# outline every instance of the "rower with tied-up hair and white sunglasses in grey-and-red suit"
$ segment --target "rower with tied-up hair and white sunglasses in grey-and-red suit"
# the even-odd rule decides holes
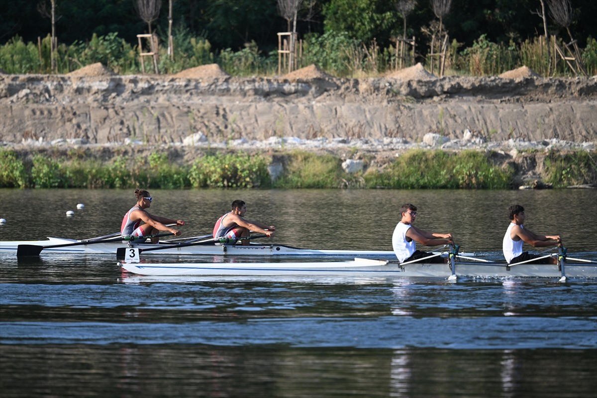
[[[158,231],[167,231],[174,234],[174,236],[180,236],[181,232],[176,229],[172,229],[165,224],[176,224],[179,226],[184,225],[183,220],[173,220],[172,218],[159,217],[158,215],[151,215],[147,212],[151,206],[153,200],[149,192],[142,189],[135,190],[135,197],[137,198],[137,204],[134,205],[122,219],[120,227],[120,233],[122,236],[147,236],[156,235]],[[143,221],[144,224],[141,224]],[[144,242],[146,239],[140,239],[138,242]],[[158,243],[159,237],[154,236],[151,238],[152,243]]]

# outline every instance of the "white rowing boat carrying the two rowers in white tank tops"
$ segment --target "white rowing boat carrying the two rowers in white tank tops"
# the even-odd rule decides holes
[[[342,277],[558,277],[597,278],[597,264],[518,264],[460,262],[399,264],[389,260],[246,263],[133,263],[119,261],[125,270],[153,276],[342,276]]]

